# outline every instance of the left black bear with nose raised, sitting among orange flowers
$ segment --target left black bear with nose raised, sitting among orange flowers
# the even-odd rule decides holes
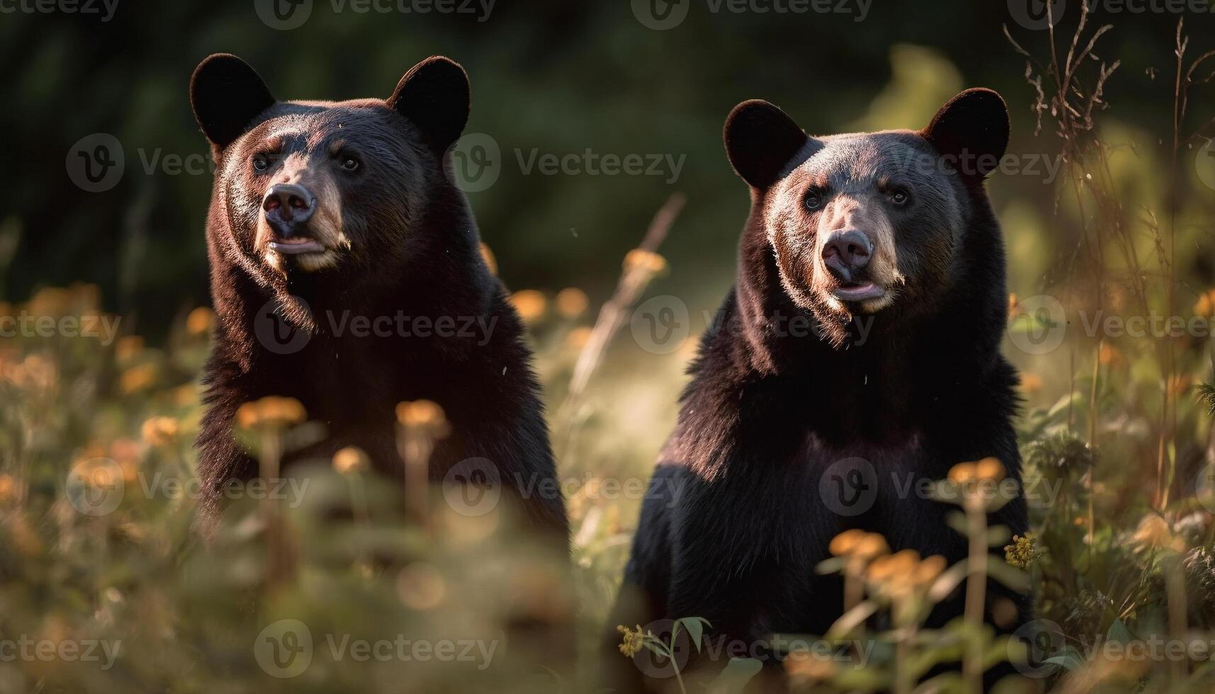
[[[479,461],[484,481],[518,492],[525,519],[567,548],[531,352],[450,175],[469,113],[464,69],[431,57],[388,100],[277,101],[242,60],[214,55],[191,102],[217,164],[204,509],[227,480],[258,474],[233,438],[244,402],[294,397],[327,429],[307,455],[355,445],[400,478],[395,407],[429,400],[451,429],[431,480]]]

